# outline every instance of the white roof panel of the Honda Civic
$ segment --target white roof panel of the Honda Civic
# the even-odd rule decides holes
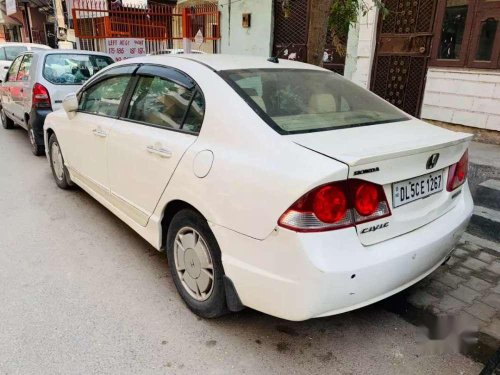
[[[305,64],[298,61],[279,59],[279,63],[269,62],[267,57],[247,55],[225,55],[225,54],[183,54],[183,55],[154,55],[136,57],[131,60],[123,60],[121,63],[150,63],[168,64],[170,59],[186,59],[199,62],[212,70],[239,70],[239,69],[308,69],[323,70],[315,65]]]

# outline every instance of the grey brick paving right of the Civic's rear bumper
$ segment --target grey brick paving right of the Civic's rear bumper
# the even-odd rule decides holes
[[[443,327],[447,331],[450,322],[467,322],[459,331],[465,333],[459,335],[460,352],[485,364],[500,347],[500,252],[474,240],[466,233],[447,264],[381,305],[426,327],[433,340],[447,337]]]

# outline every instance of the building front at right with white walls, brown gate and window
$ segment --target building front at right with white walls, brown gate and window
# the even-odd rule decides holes
[[[414,116],[500,131],[500,1],[385,4],[351,28],[345,75]]]

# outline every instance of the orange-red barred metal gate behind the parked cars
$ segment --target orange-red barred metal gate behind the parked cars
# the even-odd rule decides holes
[[[105,52],[107,38],[144,38],[147,53],[182,48],[182,39],[203,34],[204,52],[216,52],[220,39],[217,4],[172,6],[148,2],[147,6],[123,6],[121,1],[75,0],[72,9],[75,36],[80,49]]]

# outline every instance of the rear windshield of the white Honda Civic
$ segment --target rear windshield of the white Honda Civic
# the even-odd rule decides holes
[[[375,94],[331,72],[255,69],[221,75],[281,134],[409,119]]]

